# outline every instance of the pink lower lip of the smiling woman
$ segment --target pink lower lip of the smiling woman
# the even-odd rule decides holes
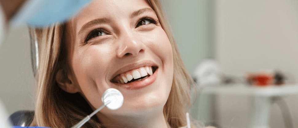
[[[149,76],[145,79],[142,79],[141,81],[134,81],[134,82],[127,83],[127,84],[117,84],[117,85],[124,87],[125,89],[129,89],[129,90],[141,89],[141,88],[149,86],[155,82],[156,77],[157,77],[157,71],[158,71],[158,68],[155,70],[154,74],[152,74],[151,76]]]

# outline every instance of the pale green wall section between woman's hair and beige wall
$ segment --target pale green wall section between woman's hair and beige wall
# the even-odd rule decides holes
[[[213,1],[162,0],[182,60],[193,75],[205,58],[213,57]]]

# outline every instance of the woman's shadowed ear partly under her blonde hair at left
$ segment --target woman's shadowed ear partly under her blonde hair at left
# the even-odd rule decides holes
[[[69,74],[64,72],[65,70],[59,69],[56,74],[56,82],[58,83],[59,87],[68,93],[77,93],[80,91],[78,86],[75,82],[72,81],[72,78]]]

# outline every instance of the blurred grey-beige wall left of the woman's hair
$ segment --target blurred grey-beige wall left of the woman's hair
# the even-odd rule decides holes
[[[34,108],[29,46],[26,26],[8,30],[0,46],[0,99],[8,114]]]

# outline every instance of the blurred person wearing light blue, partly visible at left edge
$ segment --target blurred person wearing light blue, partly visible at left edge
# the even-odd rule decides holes
[[[70,18],[91,0],[0,0],[0,46],[9,26],[43,27]],[[1,98],[0,98],[1,99]],[[7,114],[0,100],[0,127],[7,127]]]

